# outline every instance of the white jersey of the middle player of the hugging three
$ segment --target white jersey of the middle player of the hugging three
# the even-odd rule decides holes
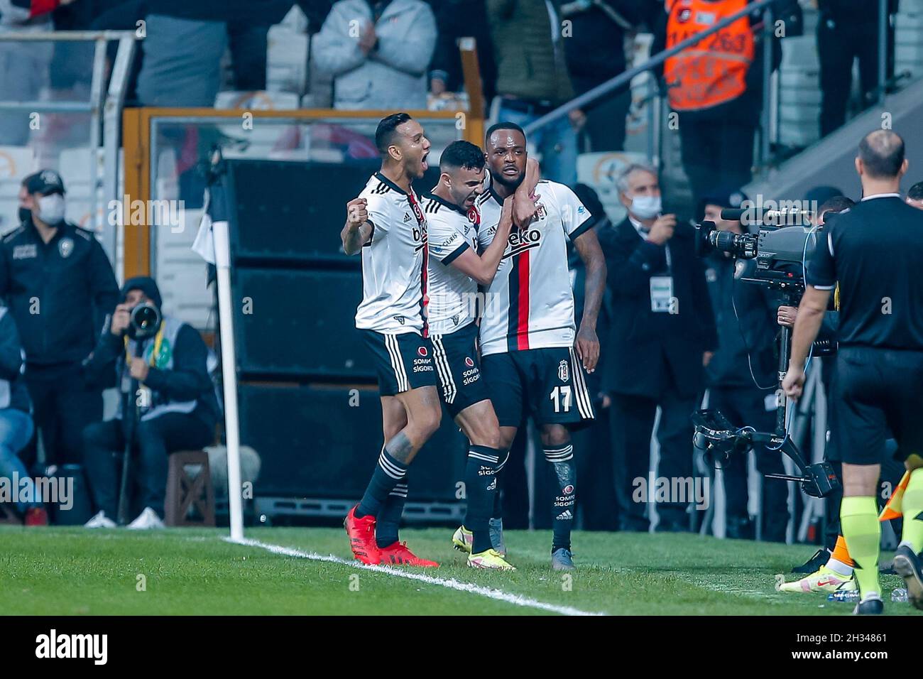
[[[423,199],[429,244],[429,302],[426,322],[430,334],[449,334],[473,322],[477,313],[477,283],[451,262],[466,249],[477,252],[478,212],[465,212],[438,196]]]

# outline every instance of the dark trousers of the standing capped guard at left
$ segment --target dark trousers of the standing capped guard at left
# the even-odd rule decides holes
[[[28,365],[26,386],[32,399],[36,431],[42,432],[46,465],[83,462],[80,432],[102,419],[102,391],[89,389],[78,363],[41,367]],[[35,461],[35,447],[26,455]]]

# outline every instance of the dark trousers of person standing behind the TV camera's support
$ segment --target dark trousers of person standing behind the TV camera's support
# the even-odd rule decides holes
[[[756,387],[712,387],[708,391],[708,406],[720,410],[735,427],[753,427],[757,431],[775,428],[775,411],[767,411],[766,394]],[[784,474],[782,453],[754,449],[756,468],[760,474]],[[747,455],[731,455],[722,463],[725,472],[725,507],[728,521],[749,516],[747,511]],[[788,486],[785,481],[762,479],[761,537],[763,540],[784,541],[788,525]]]

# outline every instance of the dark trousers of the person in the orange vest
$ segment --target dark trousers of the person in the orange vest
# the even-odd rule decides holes
[[[749,184],[755,134],[755,124],[734,117],[701,119],[680,114],[683,169],[696,201],[718,188]]]

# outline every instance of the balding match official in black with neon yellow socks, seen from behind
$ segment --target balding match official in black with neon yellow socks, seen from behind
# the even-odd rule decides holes
[[[824,225],[809,262],[783,387],[801,395],[805,361],[834,285],[840,288],[839,351],[833,376],[833,444],[843,460],[840,520],[855,562],[861,599],[855,612],[881,613],[881,526],[875,494],[885,441],[898,443],[910,470],[904,532],[894,570],[923,610],[923,212],[898,189],[907,169],[904,140],[879,129],[859,144],[864,198]]]

